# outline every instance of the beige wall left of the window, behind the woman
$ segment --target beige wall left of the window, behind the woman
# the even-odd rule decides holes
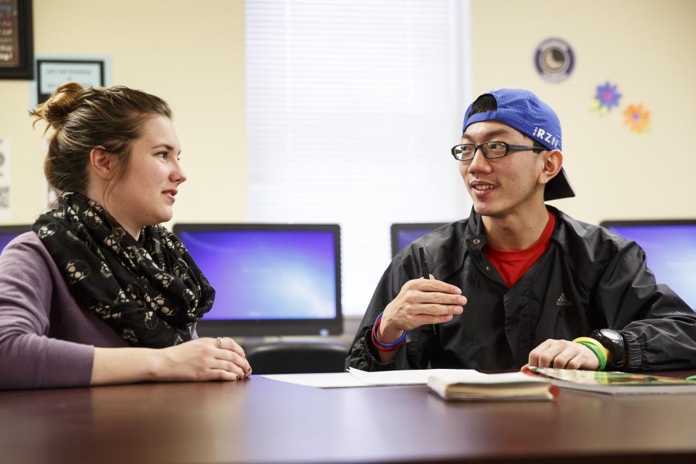
[[[189,176],[176,221],[245,220],[243,0],[34,0],[34,48],[108,55],[113,84],[170,103]],[[0,136],[12,145],[10,222],[34,222],[45,206],[43,131],[27,116],[29,81],[0,81],[0,102]]]

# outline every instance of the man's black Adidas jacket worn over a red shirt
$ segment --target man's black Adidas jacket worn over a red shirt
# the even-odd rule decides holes
[[[507,288],[481,249],[481,217],[447,224],[419,238],[392,261],[372,296],[351,347],[349,364],[363,370],[512,369],[549,338],[573,340],[598,328],[621,331],[624,370],[696,367],[696,314],[666,285],[656,284],[635,242],[568,217],[556,208],[549,249]],[[390,363],[370,340],[375,319],[407,281],[421,276],[419,247],[430,273],[462,289],[462,314],[410,331]]]

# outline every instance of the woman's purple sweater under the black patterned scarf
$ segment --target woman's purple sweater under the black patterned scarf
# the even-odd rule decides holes
[[[128,343],[78,306],[36,233],[15,238],[0,255],[0,389],[87,386],[95,346]]]

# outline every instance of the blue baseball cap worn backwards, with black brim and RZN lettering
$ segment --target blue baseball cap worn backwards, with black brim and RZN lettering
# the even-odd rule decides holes
[[[517,129],[549,150],[562,150],[558,116],[549,105],[539,100],[538,96],[523,89],[499,89],[483,95],[493,96],[498,108],[471,115],[474,106],[472,103],[464,115],[462,132],[474,122],[498,121]],[[546,184],[544,200],[572,196],[575,196],[575,191],[565,174],[565,169],[561,168],[556,177]]]

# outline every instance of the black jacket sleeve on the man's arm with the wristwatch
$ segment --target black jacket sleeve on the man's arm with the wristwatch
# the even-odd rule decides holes
[[[696,314],[657,284],[643,249],[628,242],[609,262],[597,291],[610,327],[621,331],[630,370],[696,367]]]

